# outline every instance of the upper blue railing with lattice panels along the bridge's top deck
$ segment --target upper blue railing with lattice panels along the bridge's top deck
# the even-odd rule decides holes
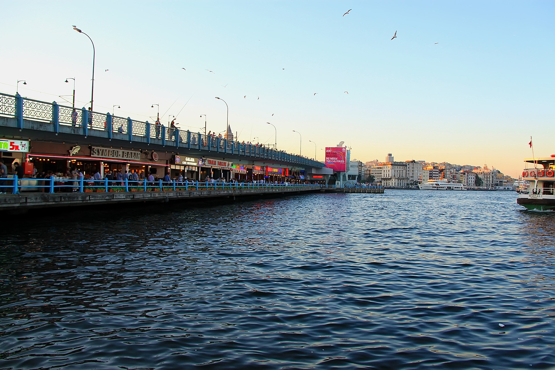
[[[47,103],[39,100],[23,98],[21,95],[0,93],[0,115],[17,119],[17,127],[23,129],[23,119],[51,123],[52,127],[42,126],[42,130],[58,133],[59,126],[73,126],[73,134],[87,137],[90,133],[94,136],[105,136],[109,139],[126,141],[145,141],[160,145],[174,146],[175,148],[188,148],[214,151],[216,153],[246,155],[261,159],[273,159],[311,166],[324,167],[324,163],[314,159],[285,153],[284,151],[256,146],[253,144],[239,143],[239,141],[215,138],[213,136],[193,133],[189,130],[168,129],[165,126],[156,126],[148,121],[136,121],[131,118],[112,116],[110,113],[98,113],[85,108],[71,108],[59,105],[56,102]],[[99,133],[102,133],[98,135]],[[141,139],[139,139],[141,138]],[[207,154],[208,155],[208,154]]]

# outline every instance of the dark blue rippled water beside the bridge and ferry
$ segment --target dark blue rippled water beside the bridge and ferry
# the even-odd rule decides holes
[[[519,208],[387,191],[38,221],[0,246],[0,368],[552,369],[555,215]]]

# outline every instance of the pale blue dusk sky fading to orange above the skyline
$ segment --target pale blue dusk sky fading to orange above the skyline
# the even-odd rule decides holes
[[[393,153],[518,176],[530,136],[536,156],[555,154],[553,1],[0,6],[4,93],[26,80],[20,94],[60,103],[75,78],[88,107],[93,50],[75,25],[95,45],[95,111],[118,104],[115,115],[153,121],[159,104],[166,124],[176,115],[181,129],[204,131],[206,114],[219,132],[220,97],[240,141],[274,144],[270,122],[279,149],[299,153],[296,130],[302,154],[319,160],[345,141],[363,162]]]

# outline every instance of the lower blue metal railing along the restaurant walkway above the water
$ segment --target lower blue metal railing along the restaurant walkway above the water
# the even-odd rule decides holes
[[[335,189],[335,185],[311,184],[259,184],[259,183],[199,183],[198,181],[130,181],[125,180],[85,180],[85,179],[56,179],[50,176],[46,179],[18,179],[3,178],[0,192],[19,194],[21,191],[48,192],[132,192],[132,191],[196,191],[196,190],[229,190],[229,189],[306,189],[310,187],[320,189]],[[11,185],[6,185],[11,183]]]

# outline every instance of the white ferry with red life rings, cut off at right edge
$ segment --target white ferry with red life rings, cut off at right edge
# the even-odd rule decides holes
[[[555,154],[546,158],[526,158],[526,166],[531,168],[522,171],[522,180],[529,183],[528,187],[519,187],[517,204],[529,210],[555,210]]]

